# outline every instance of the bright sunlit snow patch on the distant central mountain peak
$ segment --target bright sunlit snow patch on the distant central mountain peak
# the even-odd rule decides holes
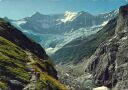
[[[69,11],[66,11],[65,14],[64,14],[64,18],[61,19],[62,22],[66,23],[68,21],[73,21],[76,16],[77,16],[78,13],[76,12],[69,12]]]

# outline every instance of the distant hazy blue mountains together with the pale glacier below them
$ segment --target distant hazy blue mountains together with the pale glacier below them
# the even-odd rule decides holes
[[[56,15],[36,12],[12,23],[28,37],[40,43],[48,54],[53,54],[77,38],[96,33],[117,14],[118,10],[95,16],[84,11],[66,11]]]

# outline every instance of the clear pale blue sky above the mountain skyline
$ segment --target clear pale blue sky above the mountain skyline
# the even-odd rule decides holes
[[[99,14],[127,3],[128,0],[0,0],[0,17],[21,19],[34,12],[59,14],[65,11]]]

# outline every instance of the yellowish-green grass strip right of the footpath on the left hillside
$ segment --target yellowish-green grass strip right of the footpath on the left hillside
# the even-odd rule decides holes
[[[68,90],[63,84],[61,84],[58,80],[53,78],[48,73],[47,65],[53,66],[53,63],[50,60],[43,61],[40,60],[35,55],[30,55],[29,53],[29,63],[34,67],[36,73],[40,73],[40,79],[37,81],[37,90],[42,90],[41,88],[47,88],[49,85],[52,89],[55,90]]]

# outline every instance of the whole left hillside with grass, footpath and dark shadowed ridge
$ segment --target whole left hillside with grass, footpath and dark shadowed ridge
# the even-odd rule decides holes
[[[0,89],[67,90],[44,49],[0,19]]]

